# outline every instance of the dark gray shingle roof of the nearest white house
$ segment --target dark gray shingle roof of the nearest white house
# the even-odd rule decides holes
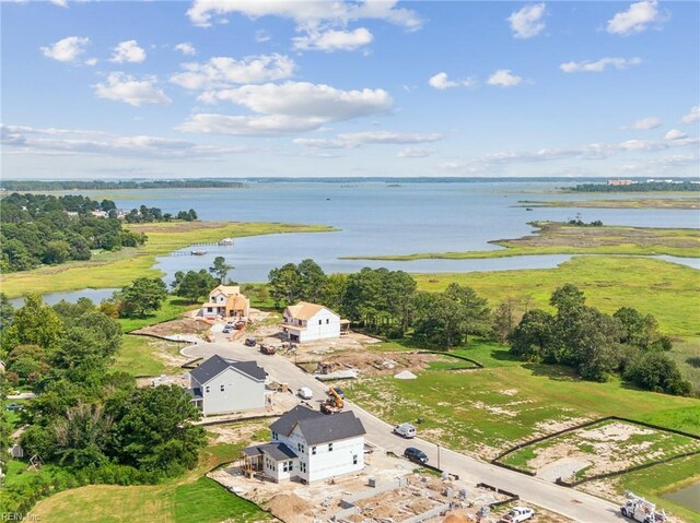
[[[351,411],[338,414],[323,414],[303,406],[295,406],[289,411],[270,425],[270,430],[289,436],[296,425],[299,425],[306,444],[310,445],[354,438],[366,433],[362,421]]]

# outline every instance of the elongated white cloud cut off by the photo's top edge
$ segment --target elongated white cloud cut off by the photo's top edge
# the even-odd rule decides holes
[[[370,19],[384,20],[409,31],[419,29],[422,21],[418,14],[397,8],[396,0],[365,0],[346,2],[327,0],[249,1],[249,0],[195,0],[187,11],[189,20],[199,26],[210,26],[212,17],[238,13],[250,19],[281,16],[293,20],[298,28],[318,28],[319,25],[345,26],[348,22]]]

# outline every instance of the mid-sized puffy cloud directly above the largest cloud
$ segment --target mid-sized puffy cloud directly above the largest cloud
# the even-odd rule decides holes
[[[294,60],[282,55],[245,57],[235,60],[214,57],[203,63],[183,63],[185,72],[173,74],[171,82],[188,90],[211,90],[231,84],[284,80],[294,73]]]

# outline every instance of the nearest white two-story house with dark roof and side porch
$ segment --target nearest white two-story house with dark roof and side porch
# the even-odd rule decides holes
[[[273,482],[318,482],[364,468],[364,426],[347,411],[331,416],[296,406],[270,425],[270,443],[243,450],[243,469]]]

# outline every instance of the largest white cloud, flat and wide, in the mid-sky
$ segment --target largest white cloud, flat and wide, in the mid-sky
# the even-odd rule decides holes
[[[306,82],[244,85],[211,91],[200,100],[228,100],[253,116],[198,114],[177,127],[180,131],[238,135],[275,135],[311,131],[324,124],[387,112],[394,100],[384,90],[341,91]]]

